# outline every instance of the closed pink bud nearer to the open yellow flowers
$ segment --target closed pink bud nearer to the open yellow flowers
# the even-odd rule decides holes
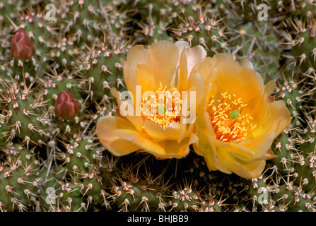
[[[55,114],[59,121],[74,121],[76,114],[79,113],[81,104],[75,99],[74,95],[66,91],[61,92],[55,100]]]

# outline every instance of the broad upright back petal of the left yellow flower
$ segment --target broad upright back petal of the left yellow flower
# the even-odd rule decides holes
[[[160,88],[160,83],[163,87],[169,88],[178,60],[179,50],[175,44],[167,40],[153,43],[148,48],[143,45],[132,47],[127,54],[127,61],[123,65],[127,90],[135,93],[136,85],[141,85],[142,92],[145,92],[147,88],[154,91]],[[139,69],[141,72],[138,73]],[[146,77],[146,73],[150,74]],[[145,77],[146,79],[144,79]],[[153,79],[154,88],[148,86],[148,79]]]

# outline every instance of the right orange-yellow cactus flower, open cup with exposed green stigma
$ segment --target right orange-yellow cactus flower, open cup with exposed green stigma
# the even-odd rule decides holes
[[[203,155],[209,170],[254,178],[262,173],[274,138],[291,119],[285,102],[271,97],[276,84],[266,85],[247,59],[241,64],[232,54],[207,57],[192,79],[204,88],[198,107],[199,141],[194,151]]]

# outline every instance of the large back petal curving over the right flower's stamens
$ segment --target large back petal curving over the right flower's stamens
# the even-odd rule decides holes
[[[261,124],[267,110],[267,99],[264,96],[264,83],[262,77],[252,71],[250,62],[244,61],[243,65],[233,61],[231,54],[216,54],[213,58],[206,58],[199,67],[199,73],[204,77],[206,92],[216,98],[221,93],[235,94],[241,98],[247,107],[244,114],[255,112],[253,124]]]

